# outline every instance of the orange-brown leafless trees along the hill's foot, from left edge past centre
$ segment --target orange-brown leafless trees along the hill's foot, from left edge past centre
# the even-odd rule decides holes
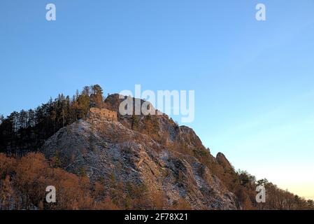
[[[165,195],[148,190],[144,184],[123,183],[114,176],[104,182],[90,183],[83,174],[55,168],[41,153],[22,158],[0,153],[0,209],[167,208]],[[45,202],[47,186],[55,186],[57,203]]]

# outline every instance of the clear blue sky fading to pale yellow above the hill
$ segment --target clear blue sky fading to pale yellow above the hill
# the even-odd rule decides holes
[[[0,78],[6,116],[95,83],[195,90],[213,155],[314,199],[313,0],[1,0]]]

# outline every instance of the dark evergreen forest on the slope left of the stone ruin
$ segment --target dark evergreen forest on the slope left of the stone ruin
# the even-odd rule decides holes
[[[103,90],[99,85],[85,86],[73,97],[59,94],[55,99],[28,111],[0,116],[0,153],[24,155],[38,151],[46,139],[60,128],[85,118],[90,107],[101,108]]]

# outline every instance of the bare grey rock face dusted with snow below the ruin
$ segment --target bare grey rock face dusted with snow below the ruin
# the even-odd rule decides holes
[[[111,103],[110,109],[117,107]],[[139,125],[143,119],[140,116]],[[237,209],[234,194],[224,188],[206,165],[189,153],[169,148],[184,142],[184,147],[195,155],[207,153],[208,160],[216,162],[194,131],[179,127],[167,116],[156,119],[158,132],[167,133],[162,143],[150,134],[131,130],[127,116],[118,116],[119,122],[93,117],[59,130],[45,142],[42,151],[47,158],[62,158],[62,167],[69,172],[77,174],[84,170],[92,181],[115,176],[124,183],[145,184],[153,192],[163,192],[169,205],[183,197],[193,209]],[[219,155],[217,161],[228,165],[223,158]]]

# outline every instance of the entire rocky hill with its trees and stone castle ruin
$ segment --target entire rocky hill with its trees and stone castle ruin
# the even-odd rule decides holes
[[[313,200],[235,171],[224,154],[211,155],[190,127],[165,114],[122,116],[123,100],[104,100],[92,85],[0,116],[0,210],[314,208]],[[51,185],[54,205],[45,203]]]

